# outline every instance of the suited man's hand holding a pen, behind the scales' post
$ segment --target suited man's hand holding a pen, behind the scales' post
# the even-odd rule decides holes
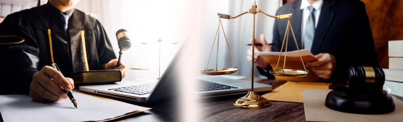
[[[252,40],[251,40],[251,42],[252,42]],[[256,51],[266,51],[266,52],[273,51],[272,47],[269,44],[267,44],[266,40],[264,39],[263,34],[260,35],[260,41],[255,39],[254,43],[262,44],[262,46],[255,46],[255,52]],[[251,48],[248,49],[247,53],[248,53],[247,59],[252,62],[252,46],[251,46]],[[255,63],[256,66],[264,68],[264,69],[266,69],[270,66],[270,64],[268,64],[262,57],[260,57],[256,53],[254,55],[254,58],[255,58],[255,60],[253,63]]]

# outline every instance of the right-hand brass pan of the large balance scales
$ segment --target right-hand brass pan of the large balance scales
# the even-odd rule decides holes
[[[272,75],[284,76],[284,77],[304,77],[308,74],[308,71],[302,70],[290,70],[290,69],[274,69],[270,70]]]

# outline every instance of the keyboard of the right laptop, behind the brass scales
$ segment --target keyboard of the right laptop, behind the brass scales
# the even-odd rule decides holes
[[[196,91],[204,92],[211,90],[231,89],[231,88],[238,88],[238,87],[208,81],[200,81],[200,84],[197,85]]]

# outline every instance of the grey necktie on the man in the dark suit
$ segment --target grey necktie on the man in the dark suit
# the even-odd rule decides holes
[[[310,51],[312,48],[312,42],[314,42],[315,37],[315,14],[314,14],[315,8],[309,6],[308,9],[310,14],[305,24],[304,48]]]

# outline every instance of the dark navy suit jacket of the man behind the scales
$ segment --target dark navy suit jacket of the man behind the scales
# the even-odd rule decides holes
[[[305,0],[303,0],[305,1]],[[289,14],[295,38],[301,49],[301,0],[289,2],[277,10],[276,15]],[[287,19],[275,20],[273,51],[280,51]],[[297,50],[292,37],[287,51]],[[285,49],[283,48],[283,51]],[[371,28],[365,5],[357,0],[324,0],[311,52],[330,53],[336,60],[335,72],[328,81],[344,80],[351,66],[378,66]],[[262,71],[260,69],[260,71]],[[268,77],[270,73],[261,72]]]

